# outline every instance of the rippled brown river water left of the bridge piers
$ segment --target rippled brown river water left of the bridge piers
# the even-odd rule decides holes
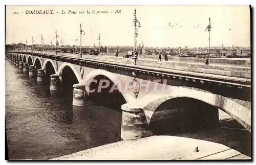
[[[50,159],[120,140],[120,111],[73,107],[72,92],[53,95],[7,60],[5,95],[9,159]]]

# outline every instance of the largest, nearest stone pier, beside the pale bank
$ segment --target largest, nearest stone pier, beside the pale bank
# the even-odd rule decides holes
[[[140,105],[126,103],[122,108],[121,138],[123,140],[139,139],[152,136],[147,125],[146,116]]]

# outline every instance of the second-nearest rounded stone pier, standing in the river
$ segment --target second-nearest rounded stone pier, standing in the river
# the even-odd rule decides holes
[[[85,87],[81,84],[73,85],[73,105],[75,106],[84,106],[86,105],[86,95],[85,95]]]

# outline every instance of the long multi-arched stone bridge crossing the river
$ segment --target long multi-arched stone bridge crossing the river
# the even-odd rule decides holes
[[[210,59],[210,64],[205,65],[141,58],[135,65],[130,58],[78,56],[6,53],[7,59],[29,77],[50,82],[51,91],[63,90],[63,86],[71,83],[74,106],[86,106],[89,98],[118,105],[122,109],[121,138],[125,140],[161,134],[163,129],[215,126],[219,121],[218,109],[251,131],[248,62],[223,60],[226,63],[220,64],[220,59]],[[101,88],[101,92],[89,93],[87,85],[95,91]],[[113,87],[115,90],[109,92]]]

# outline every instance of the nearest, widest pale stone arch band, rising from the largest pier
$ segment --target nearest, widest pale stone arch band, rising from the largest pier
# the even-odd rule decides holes
[[[173,90],[170,90],[173,89]],[[145,97],[141,98],[141,104],[144,107],[147,123],[149,124],[155,110],[164,102],[175,98],[191,98],[202,101],[209,105],[215,106],[234,120],[240,123],[244,128],[251,132],[251,110],[243,105],[240,105],[231,99],[225,98],[214,93],[189,90],[186,88],[172,87],[169,93],[163,95],[154,95],[156,93],[148,93]]]

